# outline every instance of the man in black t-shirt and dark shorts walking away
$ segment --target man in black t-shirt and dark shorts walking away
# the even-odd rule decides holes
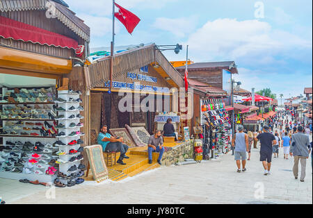
[[[273,156],[273,144],[277,144],[275,136],[271,133],[268,133],[268,126],[263,126],[264,133],[257,135],[257,140],[261,144],[260,161],[262,161],[263,167],[265,169],[264,175],[271,174],[271,163]]]

